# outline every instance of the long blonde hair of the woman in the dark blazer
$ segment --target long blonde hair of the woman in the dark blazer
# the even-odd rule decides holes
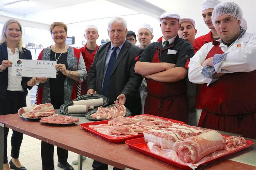
[[[20,30],[21,30],[21,39],[20,41],[18,42],[18,48],[19,48],[19,51],[20,52],[23,52],[22,51],[22,26],[21,26],[21,23],[16,20],[16,19],[9,19],[7,20],[4,25],[3,25],[3,30],[2,30],[2,33],[1,33],[1,38],[0,38],[0,45],[2,45],[3,43],[6,43],[7,42],[7,37],[6,37],[6,29],[8,27],[9,24],[12,24],[12,23],[17,23],[19,26],[20,26]]]

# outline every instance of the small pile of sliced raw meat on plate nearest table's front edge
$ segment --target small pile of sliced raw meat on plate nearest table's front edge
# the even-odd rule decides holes
[[[58,114],[53,114],[49,117],[42,117],[41,121],[44,123],[52,123],[52,124],[71,124],[79,121],[78,118],[73,118],[71,116],[61,116]]]

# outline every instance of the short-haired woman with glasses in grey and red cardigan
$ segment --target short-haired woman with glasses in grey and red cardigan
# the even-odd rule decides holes
[[[84,81],[87,72],[83,56],[80,51],[74,47],[66,45],[68,28],[64,23],[54,22],[50,26],[50,33],[54,45],[43,49],[38,56],[38,60],[57,61],[55,68],[57,70],[56,79],[38,77],[39,82],[37,93],[37,104],[52,103],[54,109],[70,100],[80,96],[79,82]],[[53,170],[53,152],[54,145],[41,142],[42,169]],[[68,151],[57,147],[58,167],[65,170],[73,170],[73,167],[67,162]]]

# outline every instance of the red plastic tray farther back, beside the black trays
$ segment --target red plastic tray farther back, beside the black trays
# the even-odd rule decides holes
[[[143,114],[143,115],[146,115],[146,116],[151,116],[151,117],[159,117],[159,116],[155,116],[155,115],[149,115],[149,114]],[[137,115],[138,116],[138,115]],[[134,117],[134,116],[129,116],[129,117]],[[163,120],[166,120],[166,121],[171,121],[173,123],[180,123],[180,124],[184,124],[184,122],[181,122],[181,121],[175,121],[173,119],[168,119],[168,118],[164,118],[164,117],[159,117]],[[108,136],[106,134],[102,134],[94,129],[91,129],[89,128],[89,125],[99,125],[99,124],[108,124],[108,121],[110,121],[112,119],[109,119],[109,120],[106,120],[106,121],[98,121],[98,122],[90,122],[90,123],[81,123],[80,126],[90,132],[90,133],[93,133],[93,134],[96,134],[97,136],[109,141],[109,142],[112,142],[112,143],[120,143],[120,142],[124,142],[128,139],[135,139],[135,138],[141,138],[143,137],[143,133],[141,134],[138,134],[138,135],[131,135],[131,136],[127,136],[127,137],[117,137],[117,138],[113,138],[111,136]]]

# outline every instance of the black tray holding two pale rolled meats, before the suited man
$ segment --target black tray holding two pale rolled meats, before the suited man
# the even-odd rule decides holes
[[[60,112],[65,114],[65,115],[68,115],[68,116],[84,116],[86,113],[76,113],[76,114],[70,114],[68,113],[68,107],[73,105],[73,101],[78,101],[78,100],[88,100],[88,99],[100,99],[100,98],[103,98],[103,105],[101,105],[102,107],[106,106],[108,104],[108,101],[107,101],[107,98],[105,96],[102,96],[102,95],[99,95],[99,94],[93,94],[93,95],[83,95],[83,96],[80,96],[74,100],[71,100],[69,101],[68,103],[65,103],[65,104],[62,104],[60,106]],[[97,107],[94,107],[94,108],[98,108]],[[92,111],[92,109],[88,109],[88,112],[89,111]]]

